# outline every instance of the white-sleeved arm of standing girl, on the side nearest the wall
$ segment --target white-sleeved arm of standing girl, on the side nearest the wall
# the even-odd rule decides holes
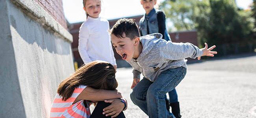
[[[91,62],[91,59],[89,58],[89,55],[87,53],[87,42],[89,39],[89,35],[89,29],[85,24],[82,24],[79,30],[78,52],[83,60],[83,63]]]

